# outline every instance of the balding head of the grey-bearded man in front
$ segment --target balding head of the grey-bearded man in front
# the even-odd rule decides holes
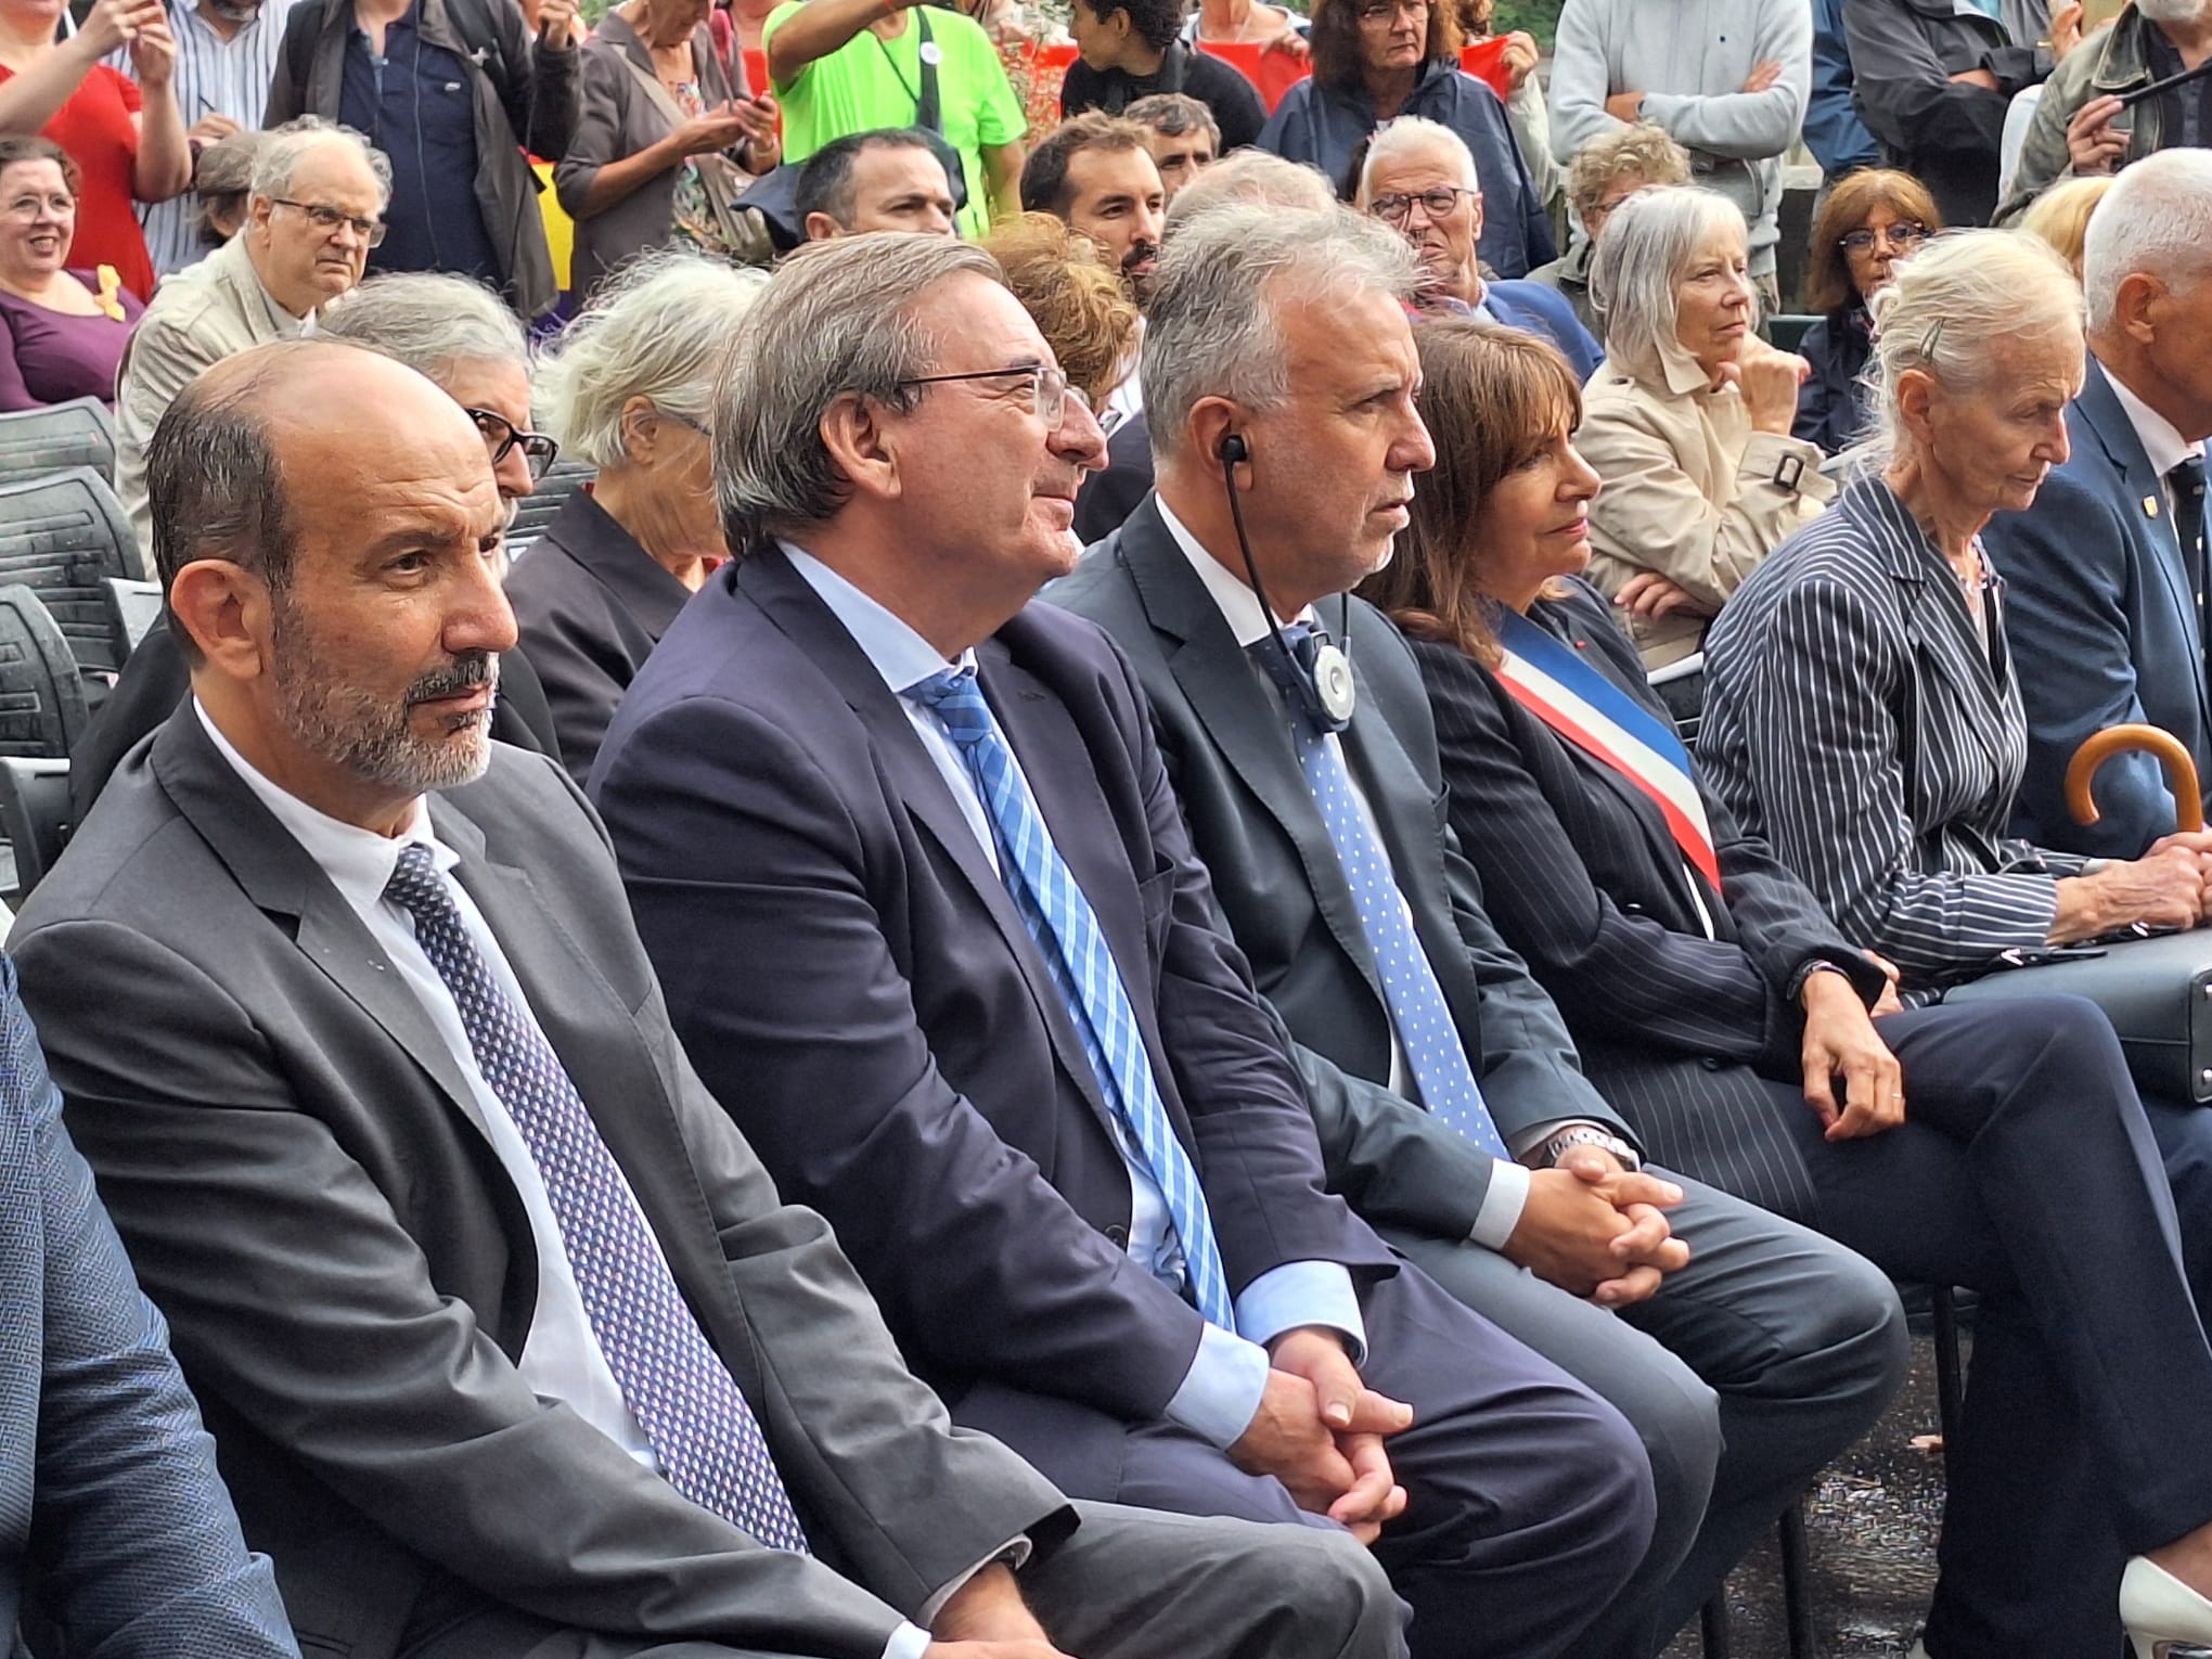
[[[451,396],[352,345],[263,345],[184,389],[146,476],[192,690],[254,770],[378,834],[484,770],[507,515]]]

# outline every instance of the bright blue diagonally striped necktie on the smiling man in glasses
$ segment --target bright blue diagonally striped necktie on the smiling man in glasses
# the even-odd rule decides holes
[[[1068,1018],[1099,1088],[1128,1124],[1146,1168],[1168,1201],[1168,1221],[1183,1245],[1190,1294],[1210,1323],[1234,1332],[1237,1316],[1230,1310],[1221,1250],[1214,1245],[1214,1223],[1206,1214],[1206,1192],[1199,1188],[1190,1152],[1168,1121],[1168,1106],[1152,1079],[1152,1062],[1144,1051],[1144,1031],[1128,1002],[1128,987],[1121,984],[1121,971],[1106,949],[1091,900],[1062,863],[1044,827],[1044,814],[1037,812],[1029,785],[1013,765],[1013,752],[982,699],[975,670],[947,668],[907,686],[905,695],[945,721],[945,732],[967,763],[975,794],[991,814],[1000,878],[1022,914],[1022,925],[1037,942],[1053,987],[1068,1004]]]

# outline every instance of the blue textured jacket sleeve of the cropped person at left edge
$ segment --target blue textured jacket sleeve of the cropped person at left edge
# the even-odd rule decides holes
[[[0,958],[0,1644],[27,1590],[38,1652],[296,1659],[246,1553],[215,1442],[62,1128],[15,964]]]

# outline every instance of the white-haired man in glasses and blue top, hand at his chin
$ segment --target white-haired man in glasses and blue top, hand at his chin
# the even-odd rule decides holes
[[[1400,115],[1376,133],[1360,166],[1358,206],[1405,237],[1420,259],[1416,305],[1425,312],[1480,314],[1542,334],[1588,380],[1604,356],[1575,307],[1544,283],[1482,279],[1482,179],[1467,139],[1442,122]]]

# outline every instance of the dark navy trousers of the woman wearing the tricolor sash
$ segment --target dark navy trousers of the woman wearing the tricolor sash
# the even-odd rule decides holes
[[[1829,1144],[1794,1084],[1770,1088],[1829,1237],[1982,1294],[1929,1655],[2108,1659],[2124,1559],[2212,1520],[2212,1349],[2159,1141],[2088,1002],[1922,1009],[1880,1033],[1905,1068],[1900,1128]],[[2203,1248],[2212,1121],[2154,1115],[2197,1159],[2185,1230]]]

